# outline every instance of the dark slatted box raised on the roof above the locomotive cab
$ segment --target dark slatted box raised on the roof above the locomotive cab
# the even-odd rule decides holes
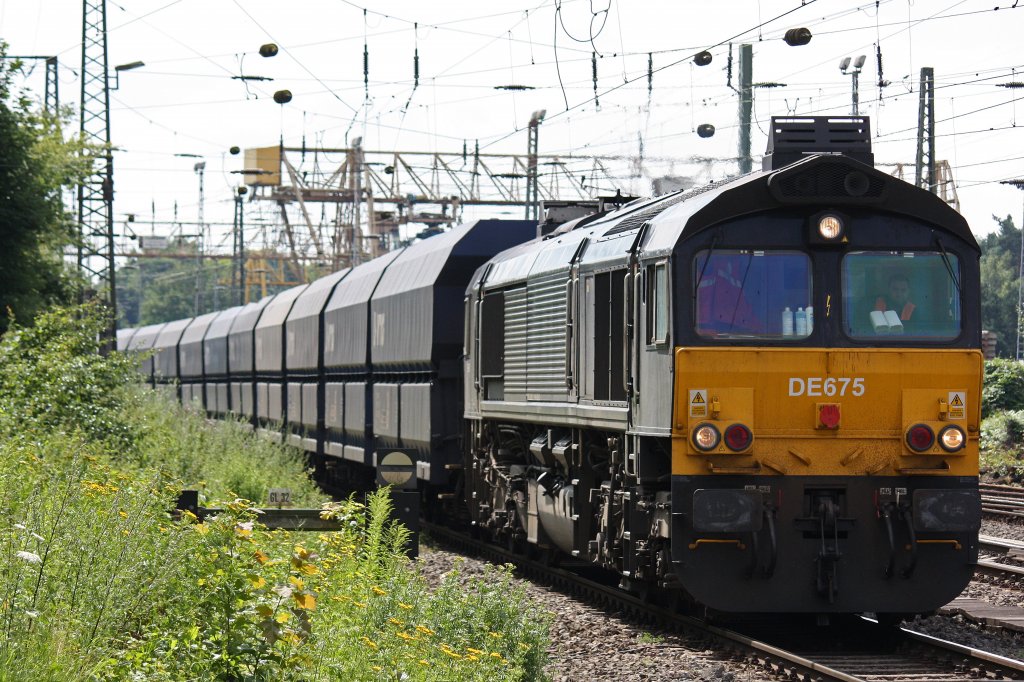
[[[812,154],[841,154],[874,165],[871,127],[862,116],[773,116],[762,169],[773,171]]]

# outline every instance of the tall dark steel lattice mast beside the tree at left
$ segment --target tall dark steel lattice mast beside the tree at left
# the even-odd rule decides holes
[[[106,65],[106,0],[82,2],[82,93],[80,132],[83,141],[101,152],[92,172],[78,185],[78,267],[95,283],[108,306],[104,345],[117,338],[117,293],[114,272],[114,155],[111,153],[111,94]],[[84,297],[84,296],[83,296]]]

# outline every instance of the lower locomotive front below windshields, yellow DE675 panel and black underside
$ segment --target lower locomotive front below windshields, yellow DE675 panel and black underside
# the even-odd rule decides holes
[[[679,577],[725,610],[932,610],[977,559],[981,355],[679,348]],[[679,551],[681,550],[681,551]]]

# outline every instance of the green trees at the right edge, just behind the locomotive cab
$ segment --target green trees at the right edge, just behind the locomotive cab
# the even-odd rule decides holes
[[[1021,230],[1009,215],[992,219],[998,229],[981,240],[981,326],[997,335],[999,356],[1013,357],[1017,349]]]

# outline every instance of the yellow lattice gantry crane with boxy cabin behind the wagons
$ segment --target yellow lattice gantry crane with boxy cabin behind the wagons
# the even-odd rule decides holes
[[[357,144],[271,146],[246,151],[245,181],[254,188],[255,201],[279,205],[284,242],[296,262],[338,268],[374,258],[417,236],[403,226],[420,224],[423,227],[414,231],[425,235],[452,225],[465,207],[505,207],[511,212],[542,201],[608,194],[622,182],[615,166],[628,161],[465,150],[378,152]],[[534,177],[536,189],[530,188]],[[330,205],[333,209],[327,208]]]

